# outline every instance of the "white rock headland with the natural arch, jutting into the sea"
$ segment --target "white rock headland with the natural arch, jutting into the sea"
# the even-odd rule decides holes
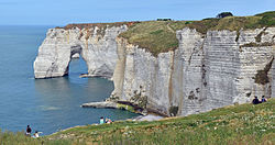
[[[125,25],[48,30],[34,62],[35,78],[67,75],[75,54],[80,54],[85,59],[89,76],[111,78],[118,58],[116,37],[124,31]]]

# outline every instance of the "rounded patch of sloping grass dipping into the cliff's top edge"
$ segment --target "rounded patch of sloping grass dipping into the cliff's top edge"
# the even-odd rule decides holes
[[[175,49],[178,41],[174,30],[168,29],[170,21],[147,21],[136,23],[120,36],[130,44],[146,48],[154,55],[167,49]]]

